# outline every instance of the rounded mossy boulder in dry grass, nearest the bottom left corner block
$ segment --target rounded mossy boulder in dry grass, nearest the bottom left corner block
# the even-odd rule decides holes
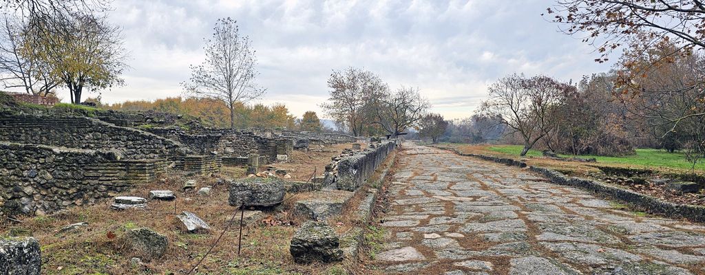
[[[161,257],[168,246],[166,236],[144,227],[128,231],[125,240],[133,254],[147,260]]]

